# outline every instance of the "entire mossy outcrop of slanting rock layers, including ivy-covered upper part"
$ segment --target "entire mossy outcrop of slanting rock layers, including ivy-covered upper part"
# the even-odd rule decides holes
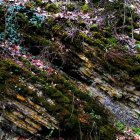
[[[5,7],[0,7],[1,139],[114,140],[116,121],[140,127],[140,58],[116,39],[122,16],[115,38],[100,10],[94,11],[97,18],[39,1],[9,5],[7,15]]]

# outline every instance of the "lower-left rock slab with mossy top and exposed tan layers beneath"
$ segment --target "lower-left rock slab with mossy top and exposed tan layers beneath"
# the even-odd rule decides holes
[[[22,67],[11,58],[1,57],[0,123],[3,131],[9,129],[18,134],[17,136],[28,138],[33,135],[33,139],[47,139],[49,136],[58,137],[59,132],[64,138],[72,138],[69,131],[78,136],[78,123],[85,138],[88,138],[86,133],[90,132],[92,123],[96,124],[96,121],[100,124],[97,124],[97,131],[111,129],[112,126],[106,122],[107,112],[104,113],[101,105],[99,107],[88,93],[78,90],[65,75],[60,75],[55,70],[48,74],[26,60],[28,68],[32,69],[28,71],[24,65],[25,60],[21,63]],[[90,114],[93,110],[102,116],[94,118]],[[102,133],[107,135],[105,131]],[[112,134],[109,137],[112,137]]]

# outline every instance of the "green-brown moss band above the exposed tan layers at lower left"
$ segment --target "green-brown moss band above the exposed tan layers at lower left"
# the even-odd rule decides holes
[[[29,66],[30,63],[28,63],[28,67]],[[101,115],[100,119],[102,121],[98,120],[100,123],[97,121],[98,129],[100,130],[102,125],[108,124],[106,121],[107,118],[105,117],[106,114],[102,112],[102,107],[99,109],[96,101],[90,98],[88,93],[80,91],[74,85],[73,81],[66,79],[59,73],[56,74],[55,72],[51,76],[47,76],[45,71],[41,72],[39,70],[39,74],[33,75],[26,67],[27,66],[22,68],[10,59],[5,60],[2,58],[0,60],[0,78],[3,78],[3,81],[5,81],[4,83],[6,83],[5,85],[0,82],[0,95],[2,95],[4,87],[7,88],[8,92],[12,89],[10,99],[17,100],[17,102],[21,101],[20,104],[26,104],[26,106],[30,106],[33,110],[37,107],[36,105],[39,105],[43,106],[50,114],[55,113],[54,116],[59,121],[62,136],[65,138],[73,137],[71,135],[65,135],[66,133],[69,133],[69,131],[73,132],[75,137],[80,137],[79,123],[83,136],[86,135],[87,131],[90,131],[93,121],[90,112],[93,109],[97,114]],[[24,80],[26,82],[24,82]],[[38,90],[43,91],[42,97],[37,94],[37,83],[40,87]],[[56,86],[54,86],[55,84]],[[5,93],[5,98],[9,98],[9,93]],[[23,99],[28,100],[24,103]],[[32,103],[30,101],[32,101]],[[34,107],[31,106],[33,103],[36,104]],[[79,105],[81,106],[80,109]],[[83,114],[84,110],[86,114]],[[108,124],[108,128],[105,128],[105,131],[109,132],[110,128],[111,126]],[[63,134],[63,130],[65,130],[65,134]],[[102,132],[102,134],[106,135],[104,132]],[[112,135],[112,133],[110,135]],[[106,138],[107,137],[109,136],[106,136]]]

